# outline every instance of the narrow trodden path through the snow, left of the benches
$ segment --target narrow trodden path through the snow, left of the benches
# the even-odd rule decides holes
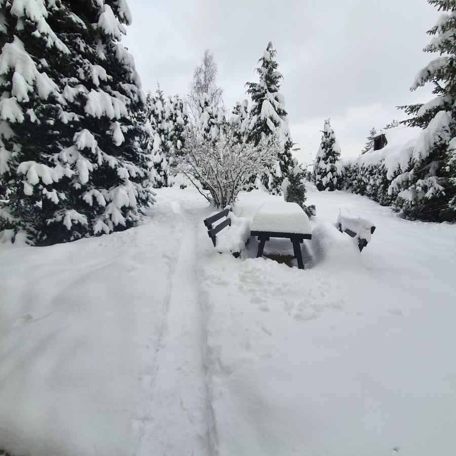
[[[137,454],[201,455],[208,451],[204,333],[196,278],[194,220],[171,202],[183,218],[185,232],[172,273],[167,315],[159,336],[149,416]]]

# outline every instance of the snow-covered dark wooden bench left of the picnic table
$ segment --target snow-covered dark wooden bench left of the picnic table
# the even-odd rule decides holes
[[[224,218],[220,223],[214,223]],[[207,234],[212,240],[214,247],[219,253],[232,253],[235,258],[241,255],[241,251],[249,241],[250,221],[243,217],[236,217],[226,207],[204,220],[207,227]],[[229,226],[229,229],[222,231]]]

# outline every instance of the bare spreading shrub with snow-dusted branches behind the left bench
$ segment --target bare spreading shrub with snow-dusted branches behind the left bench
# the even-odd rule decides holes
[[[199,128],[189,127],[184,141],[182,153],[172,149],[172,169],[185,175],[217,208],[233,204],[251,176],[267,171],[277,157],[275,137],[262,138],[256,146],[240,142],[228,123],[215,140]]]

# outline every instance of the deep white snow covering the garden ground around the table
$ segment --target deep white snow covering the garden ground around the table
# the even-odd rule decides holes
[[[0,246],[0,449],[454,454],[456,226],[309,190],[304,271],[218,254],[193,189],[123,233]],[[377,227],[361,254],[339,207]]]

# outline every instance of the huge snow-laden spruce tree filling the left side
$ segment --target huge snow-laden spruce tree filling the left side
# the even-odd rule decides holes
[[[0,231],[55,243],[132,226],[153,193],[126,1],[0,6],[0,185],[12,192]]]

